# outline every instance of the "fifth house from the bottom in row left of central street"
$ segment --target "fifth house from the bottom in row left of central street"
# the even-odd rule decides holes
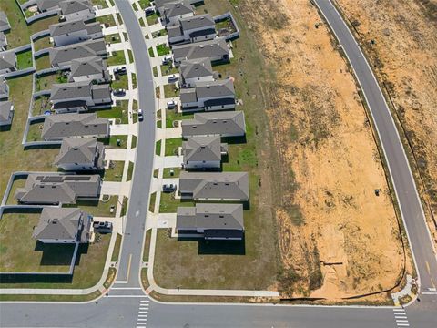
[[[112,103],[111,88],[108,84],[94,85],[91,81],[53,84],[50,101],[57,114],[87,111]]]

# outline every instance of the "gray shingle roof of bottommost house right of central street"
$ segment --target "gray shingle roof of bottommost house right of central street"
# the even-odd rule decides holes
[[[188,230],[244,230],[241,204],[196,204],[196,207],[178,207],[176,228]]]

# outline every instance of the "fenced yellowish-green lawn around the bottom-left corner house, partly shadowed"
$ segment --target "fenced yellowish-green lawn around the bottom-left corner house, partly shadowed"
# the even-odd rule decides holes
[[[74,244],[32,237],[40,213],[7,213],[0,220],[0,272],[68,272]],[[19,233],[16,233],[19,231]]]

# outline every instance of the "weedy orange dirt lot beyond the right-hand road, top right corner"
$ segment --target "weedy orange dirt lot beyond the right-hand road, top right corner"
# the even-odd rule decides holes
[[[437,220],[437,1],[338,3],[388,87],[421,173],[425,210]],[[437,241],[431,221],[430,228]]]

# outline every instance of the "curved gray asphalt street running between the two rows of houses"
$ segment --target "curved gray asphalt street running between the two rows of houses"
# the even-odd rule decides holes
[[[138,108],[144,112],[144,120],[139,122],[137,135],[137,159],[132,179],[125,238],[120,255],[118,282],[125,287],[139,287],[138,272],[146,227],[148,197],[153,172],[155,154],[155,87],[153,73],[147,56],[145,38],[141,32],[132,6],[126,0],[116,0],[127,29],[132,52],[137,67]]]

